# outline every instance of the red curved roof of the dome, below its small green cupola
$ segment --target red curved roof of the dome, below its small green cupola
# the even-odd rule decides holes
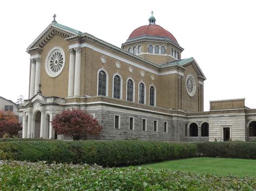
[[[174,43],[177,43],[177,40],[175,37],[173,37],[172,33],[169,31],[165,30],[163,27],[159,25],[145,25],[145,26],[140,26],[136,30],[134,30],[131,34],[129,39],[140,37],[140,36],[157,36],[157,37],[167,37],[174,41]]]

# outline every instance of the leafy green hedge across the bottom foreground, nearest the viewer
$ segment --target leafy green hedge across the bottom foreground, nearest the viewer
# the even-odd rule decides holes
[[[150,168],[2,161],[0,190],[255,190],[256,179]]]

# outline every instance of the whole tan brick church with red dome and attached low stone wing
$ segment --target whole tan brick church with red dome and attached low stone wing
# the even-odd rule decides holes
[[[153,13],[121,48],[53,17],[26,51],[23,138],[62,139],[50,121],[60,111],[80,108],[103,126],[99,139],[256,139],[256,109],[245,107],[244,98],[211,101],[204,111],[206,76],[196,60],[182,57],[183,47]]]

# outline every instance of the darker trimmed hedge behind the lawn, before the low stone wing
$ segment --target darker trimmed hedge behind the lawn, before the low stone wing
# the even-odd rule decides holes
[[[198,153],[204,157],[256,159],[256,142],[198,143]]]

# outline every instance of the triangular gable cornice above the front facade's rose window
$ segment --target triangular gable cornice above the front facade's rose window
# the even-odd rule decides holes
[[[46,27],[46,29],[33,41],[33,43],[31,45],[29,45],[29,47],[26,49],[27,52],[42,49],[44,47],[44,45],[53,36],[55,36],[55,34],[62,36],[63,38],[66,39],[66,38],[70,38],[70,37],[80,36],[80,34],[82,34],[82,32],[53,22],[48,27]]]

